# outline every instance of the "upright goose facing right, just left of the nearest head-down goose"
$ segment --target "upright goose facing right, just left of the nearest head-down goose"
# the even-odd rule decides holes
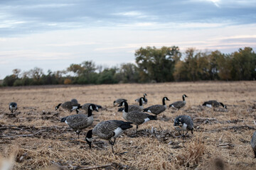
[[[69,125],[70,128],[75,130],[75,132],[79,134],[82,131],[82,129],[85,129],[92,125],[93,123],[93,117],[92,117],[92,111],[97,111],[97,108],[94,104],[91,104],[88,107],[88,115],[85,114],[77,114],[77,115],[68,115],[65,118],[62,118],[60,122],[65,122]]]

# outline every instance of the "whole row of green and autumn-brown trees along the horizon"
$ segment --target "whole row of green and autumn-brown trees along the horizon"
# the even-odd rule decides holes
[[[117,84],[200,80],[255,80],[256,54],[251,47],[223,54],[218,50],[201,52],[188,48],[181,54],[176,46],[141,47],[135,62],[103,68],[93,61],[70,64],[65,70],[43,73],[35,67],[26,72],[14,69],[4,78],[3,86],[46,84]]]

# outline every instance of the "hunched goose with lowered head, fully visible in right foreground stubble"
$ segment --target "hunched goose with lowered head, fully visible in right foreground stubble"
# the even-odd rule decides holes
[[[179,115],[174,120],[174,128],[178,130],[180,135],[181,130],[186,131],[186,134],[182,135],[185,137],[188,134],[188,130],[191,130],[191,133],[193,134],[193,121],[189,115]]]

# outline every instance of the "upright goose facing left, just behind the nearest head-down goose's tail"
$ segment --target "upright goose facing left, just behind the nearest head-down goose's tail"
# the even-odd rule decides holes
[[[138,127],[139,125],[142,125],[142,123],[146,123],[149,120],[157,120],[156,116],[154,115],[149,115],[141,111],[129,111],[129,106],[126,101],[122,101],[118,107],[120,106],[124,106],[124,111],[123,111],[124,120],[127,120],[128,122],[132,122],[134,123],[134,125],[136,125],[136,136],[138,135],[137,130],[139,128]]]

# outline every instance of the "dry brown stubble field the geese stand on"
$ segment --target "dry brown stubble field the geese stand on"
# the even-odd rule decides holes
[[[122,97],[134,103],[144,93],[146,106],[161,104],[164,96],[171,100],[168,106],[183,94],[188,98],[180,111],[168,108],[159,120],[140,125],[139,137],[134,137],[135,127],[124,132],[114,145],[117,154],[97,137],[89,149],[84,142],[87,130],[102,120],[124,120],[113,101]],[[255,96],[256,81],[1,88],[0,167],[14,160],[14,169],[256,169],[250,147],[256,129]],[[60,123],[70,113],[55,111],[58,103],[72,98],[103,106],[80,140]],[[210,99],[223,102],[228,110],[201,106]],[[11,101],[18,103],[14,114],[8,109]],[[185,138],[173,126],[174,118],[184,114],[191,115],[195,127]]]

